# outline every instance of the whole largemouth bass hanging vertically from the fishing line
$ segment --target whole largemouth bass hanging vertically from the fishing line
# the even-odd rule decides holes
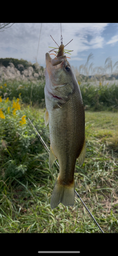
[[[51,197],[51,208],[61,202],[73,206],[76,159],[81,166],[85,159],[85,113],[77,79],[66,56],[52,59],[45,54],[45,125],[49,123],[49,167],[59,162],[59,176]]]

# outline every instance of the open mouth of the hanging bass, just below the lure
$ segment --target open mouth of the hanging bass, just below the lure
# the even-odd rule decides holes
[[[60,56],[52,59],[50,54],[46,53],[45,59],[46,59],[46,65],[50,65],[49,63],[51,63],[52,66],[57,66],[61,63],[61,66],[63,66],[63,63],[64,63],[64,56]]]

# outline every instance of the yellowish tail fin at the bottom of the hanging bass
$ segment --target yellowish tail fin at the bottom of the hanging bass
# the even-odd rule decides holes
[[[75,181],[71,185],[62,185],[59,183],[58,178],[51,197],[51,208],[54,209],[59,203],[65,206],[73,206],[75,200]]]

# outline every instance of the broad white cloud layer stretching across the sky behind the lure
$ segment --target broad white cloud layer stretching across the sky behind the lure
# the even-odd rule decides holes
[[[73,39],[65,47],[68,50],[74,50],[72,53],[73,59],[81,60],[78,57],[79,52],[104,46],[102,32],[108,26],[107,23],[62,23],[61,26],[63,44],[66,45]],[[40,27],[40,23],[16,23],[11,28],[1,32],[1,57],[23,58],[35,62]],[[42,23],[37,57],[41,66],[45,66],[45,53],[49,52],[49,46],[57,47],[50,35],[53,36],[58,45],[61,44],[60,23]]]

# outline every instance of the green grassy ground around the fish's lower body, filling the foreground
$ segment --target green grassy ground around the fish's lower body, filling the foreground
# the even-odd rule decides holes
[[[44,126],[45,109],[21,105],[17,115],[1,119],[0,232],[1,233],[93,233],[101,232],[75,197],[74,207],[51,210],[50,201],[58,170],[49,169],[49,155],[28,122],[50,146]],[[19,125],[22,115],[26,124]],[[76,190],[104,232],[118,232],[118,139],[117,113],[85,112],[87,153],[76,164]]]

